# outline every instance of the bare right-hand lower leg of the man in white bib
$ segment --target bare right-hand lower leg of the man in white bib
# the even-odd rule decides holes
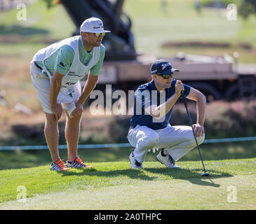
[[[65,137],[68,148],[68,161],[72,162],[77,157],[77,145],[79,142],[81,115],[74,118],[69,118],[65,111],[67,120],[65,127]]]

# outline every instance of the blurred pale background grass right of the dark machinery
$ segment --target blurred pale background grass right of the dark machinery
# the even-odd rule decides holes
[[[223,55],[234,51],[240,53],[240,62],[255,63],[253,50],[244,50],[238,43],[255,45],[256,20],[250,16],[243,20],[229,21],[226,15],[203,8],[196,13],[192,0],[167,1],[165,10],[161,8],[161,1],[147,1],[147,10],[142,10],[144,0],[126,1],[125,10],[133,21],[133,34],[137,50],[146,55],[170,57],[177,52],[198,55]],[[179,41],[214,41],[231,43],[231,48],[163,48],[166,42]]]

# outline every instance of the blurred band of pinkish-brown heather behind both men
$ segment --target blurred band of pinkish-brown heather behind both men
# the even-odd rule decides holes
[[[196,123],[196,104],[188,102],[189,114]],[[79,144],[107,144],[127,142],[131,116],[104,116],[95,118],[84,113],[81,121]],[[207,104],[205,130],[207,138],[250,137],[256,135],[256,100],[224,102],[216,101]],[[45,145],[43,123],[18,125],[13,124],[10,130],[2,134],[0,145]],[[187,111],[180,102],[173,109],[170,125],[189,125]],[[66,144],[64,120],[60,122],[60,144]],[[6,127],[7,128],[7,127]],[[4,131],[4,130],[3,130]]]

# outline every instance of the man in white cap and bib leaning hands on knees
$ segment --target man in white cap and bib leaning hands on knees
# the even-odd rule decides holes
[[[105,33],[102,20],[88,18],[80,27],[80,35],[53,43],[36,52],[30,66],[32,83],[39,102],[46,113],[45,137],[53,162],[50,170],[68,170],[67,167],[88,167],[77,157],[77,144],[83,104],[93,91],[103,59],[105,47],[101,44]],[[87,76],[81,91],[79,80]],[[74,103],[69,116],[67,108]],[[71,105],[72,106],[72,105]],[[73,107],[74,108],[74,107]],[[65,138],[68,160],[60,160],[58,152],[58,120],[62,111],[67,116]]]

